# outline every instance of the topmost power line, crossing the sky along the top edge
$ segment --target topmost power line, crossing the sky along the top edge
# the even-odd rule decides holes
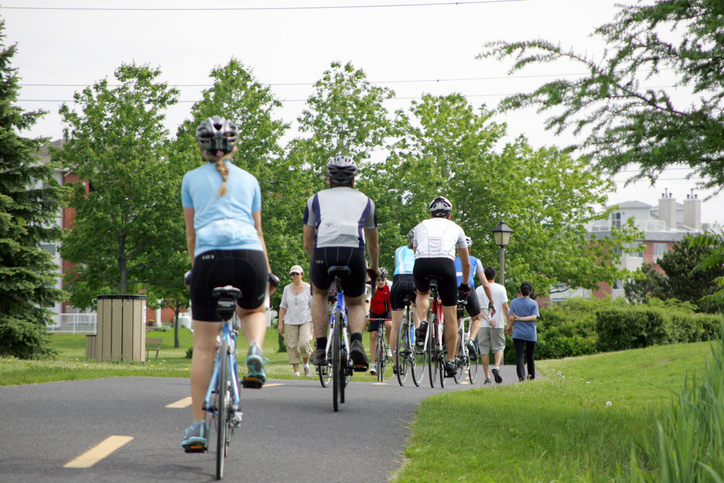
[[[375,5],[307,5],[299,7],[214,7],[214,8],[135,8],[135,7],[0,7],[5,10],[70,10],[102,12],[220,12],[220,11],[284,11],[284,10],[350,10],[362,8],[417,8],[451,5],[479,5],[485,3],[525,2],[528,0],[476,0],[463,2],[395,3]]]

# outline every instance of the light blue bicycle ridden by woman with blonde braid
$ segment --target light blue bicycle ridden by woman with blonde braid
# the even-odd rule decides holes
[[[239,399],[239,375],[236,360],[236,336],[239,325],[236,318],[236,300],[241,291],[227,285],[212,291],[216,299],[216,312],[221,317],[222,330],[217,346],[216,363],[202,408],[206,411],[206,427],[209,433],[216,429],[216,479],[224,475],[224,459],[234,429],[241,424],[242,412]],[[244,387],[260,387],[258,381],[245,381]],[[190,447],[190,449],[195,449]],[[196,448],[205,452],[208,448]]]

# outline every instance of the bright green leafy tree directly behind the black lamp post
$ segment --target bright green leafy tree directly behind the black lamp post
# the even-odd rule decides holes
[[[384,178],[400,233],[428,217],[429,201],[441,194],[453,203],[453,220],[473,238],[473,255],[486,265],[497,266],[493,227],[504,218],[514,230],[506,252],[511,291],[523,280],[547,293],[559,282],[594,289],[600,281],[625,278],[616,249],[629,250],[624,245],[634,241],[633,227],[600,240],[589,239],[585,229],[608,215],[595,209],[605,206],[610,182],[587,159],[555,148],[535,150],[523,137],[497,153],[505,126],[491,115],[452,94],[426,95],[400,116],[405,136]]]

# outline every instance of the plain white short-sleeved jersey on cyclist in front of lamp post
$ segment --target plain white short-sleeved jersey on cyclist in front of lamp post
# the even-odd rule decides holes
[[[415,227],[415,259],[455,260],[457,248],[467,248],[465,232],[447,218],[428,218]]]

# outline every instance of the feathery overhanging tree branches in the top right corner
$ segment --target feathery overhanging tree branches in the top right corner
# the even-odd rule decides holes
[[[536,106],[550,112],[547,129],[559,134],[572,128],[583,138],[573,147],[587,149],[612,173],[634,164],[639,172],[633,179],[653,182],[667,166],[683,163],[706,180],[704,187],[721,190],[724,3],[661,0],[620,9],[594,31],[608,45],[598,60],[545,40],[486,44],[480,57],[513,58],[511,72],[559,60],[588,72],[507,97],[500,109]],[[676,78],[672,89],[646,87],[669,73]],[[675,98],[680,88],[696,100]]]

